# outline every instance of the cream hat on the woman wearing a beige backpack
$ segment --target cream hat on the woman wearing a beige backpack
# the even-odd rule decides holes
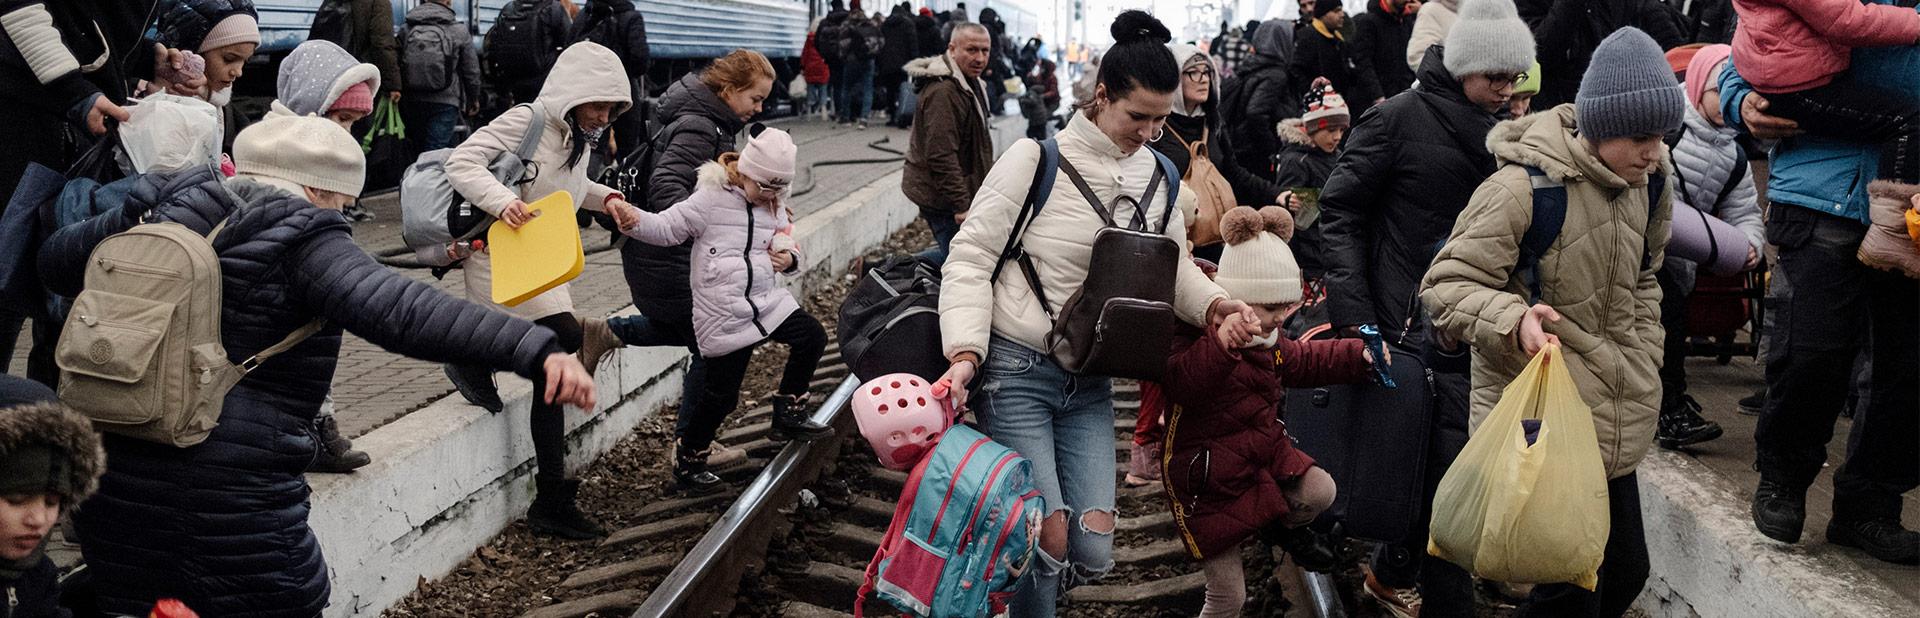
[[[240,131],[234,171],[357,198],[367,180],[367,157],[334,121],[276,115]]]

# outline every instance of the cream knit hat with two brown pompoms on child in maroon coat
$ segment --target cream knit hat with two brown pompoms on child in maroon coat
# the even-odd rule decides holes
[[[1300,263],[1286,240],[1294,236],[1294,217],[1284,207],[1254,209],[1238,205],[1219,217],[1219,234],[1227,248],[1219,253],[1219,273],[1213,282],[1227,296],[1250,305],[1298,303]]]

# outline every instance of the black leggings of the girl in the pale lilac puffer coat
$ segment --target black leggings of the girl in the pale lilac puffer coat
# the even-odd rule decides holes
[[[828,330],[806,311],[793,311],[768,340],[787,344],[787,367],[780,374],[780,393],[804,395],[814,380],[814,367],[820,365],[820,355],[828,349]],[[739,384],[747,380],[747,361],[753,361],[753,349],[760,344],[707,359],[707,392],[701,395],[701,407],[693,420],[680,434],[684,447],[705,451],[712,443],[720,422],[726,422],[726,416],[739,405]]]

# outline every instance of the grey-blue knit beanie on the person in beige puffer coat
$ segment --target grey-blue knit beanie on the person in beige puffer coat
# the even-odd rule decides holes
[[[1613,31],[1594,50],[1574,96],[1580,134],[1590,140],[1665,134],[1686,117],[1686,90],[1653,36],[1634,27]]]

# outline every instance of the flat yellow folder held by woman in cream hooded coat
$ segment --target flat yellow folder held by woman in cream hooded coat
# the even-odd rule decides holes
[[[493,253],[493,301],[515,307],[580,276],[588,263],[574,221],[574,196],[553,192],[528,203],[534,213],[518,230],[493,221],[486,232]]]

